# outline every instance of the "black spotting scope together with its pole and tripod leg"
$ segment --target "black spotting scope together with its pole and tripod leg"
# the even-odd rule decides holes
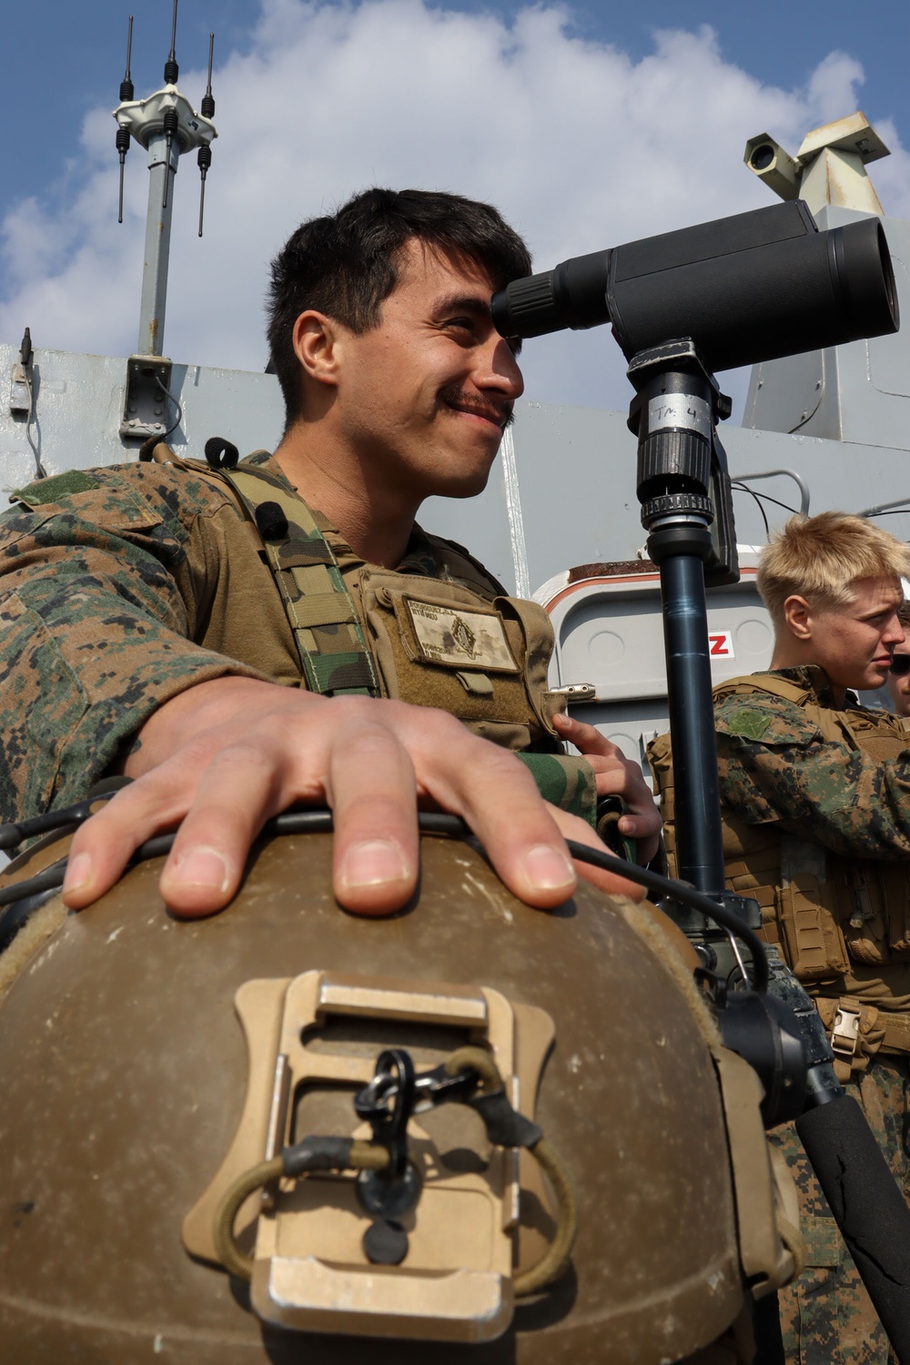
[[[629,360],[641,523],[648,557],[660,569],[679,875],[760,932],[759,902],[726,889],[723,861],[704,590],[705,579],[735,581],[738,568],[730,476],[716,434],[718,420],[730,416],[730,400],[714,371],[896,332],[881,222],[858,218],[820,232],[795,199],[573,257],[555,270],[514,280],[490,308],[505,337],[611,322]],[[765,1104],[765,1122],[795,1118],[895,1355],[910,1365],[910,1211],[862,1110],[835,1076],[813,1002],[776,953],[767,992],[759,988],[750,998],[729,990],[727,965],[708,942],[724,932],[704,934],[714,916],[699,923],[671,900],[662,908],[696,942],[726,1044],[759,1074],[764,1066],[765,1100],[775,1087],[790,1092],[793,1110],[771,1114]],[[774,1054],[769,1065],[760,1058],[763,1037],[767,1058]],[[789,1078],[784,1054],[793,1061]],[[771,1308],[756,1317],[756,1358],[782,1361],[774,1297],[768,1301]]]

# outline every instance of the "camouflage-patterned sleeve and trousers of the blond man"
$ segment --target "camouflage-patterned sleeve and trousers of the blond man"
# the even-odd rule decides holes
[[[761,677],[756,674],[756,681]],[[771,677],[806,688],[812,706],[835,714],[821,669],[780,669]],[[845,713],[853,714],[849,706]],[[722,801],[746,824],[776,824],[843,859],[899,864],[910,857],[910,751],[900,752],[899,737],[892,745],[896,758],[876,758],[847,744],[846,737],[845,743],[825,737],[810,714],[767,692],[723,698],[715,706],[715,719]],[[842,977],[809,988],[813,995],[849,995],[890,1010],[910,1007],[910,972],[902,961],[876,966],[850,962]],[[906,1198],[910,1062],[879,1052],[846,1085]],[[805,1271],[780,1290],[787,1361],[896,1365],[795,1127],[787,1123],[769,1136],[793,1173],[801,1230],[809,1246]]]

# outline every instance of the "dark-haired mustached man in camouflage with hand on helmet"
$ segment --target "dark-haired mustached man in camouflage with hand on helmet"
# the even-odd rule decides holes
[[[288,410],[274,456],[233,476],[158,448],[158,463],[19,491],[0,542],[1,818],[63,805],[105,773],[135,778],[78,833],[71,906],[180,824],[162,894],[176,913],[211,913],[262,822],[297,800],[332,804],[336,891],[362,913],[413,891],[416,800],[463,815],[532,905],[572,893],[562,835],[596,842],[570,814],[591,814],[595,788],[625,794],[622,833],[651,856],[659,818],[636,766],[546,691],[539,609],[505,602],[415,521],[426,497],[487,480],[523,389],[488,299],[529,266],[487,205],[367,191],[274,262]],[[422,689],[427,662],[439,667]]]

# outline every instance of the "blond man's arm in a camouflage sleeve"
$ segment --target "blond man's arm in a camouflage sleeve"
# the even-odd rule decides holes
[[[727,698],[715,718],[720,794],[742,820],[853,857],[910,856],[910,749],[879,762],[778,698]]]

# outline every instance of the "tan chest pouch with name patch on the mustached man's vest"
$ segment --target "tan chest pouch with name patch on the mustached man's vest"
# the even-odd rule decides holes
[[[364,568],[360,599],[385,696],[435,706],[509,748],[557,737],[543,607],[486,602],[454,583]]]

